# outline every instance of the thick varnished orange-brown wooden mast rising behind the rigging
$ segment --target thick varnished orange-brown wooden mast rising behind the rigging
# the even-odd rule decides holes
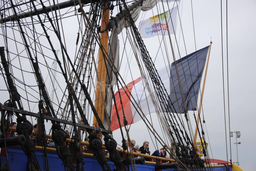
[[[94,100],[94,106],[95,109],[103,123],[104,119],[104,100],[105,100],[105,91],[106,91],[106,65],[104,62],[103,53],[105,56],[107,56],[106,52],[108,52],[108,30],[106,29],[106,25],[109,23],[109,6],[104,5],[102,14],[101,14],[101,33],[100,33],[100,40],[103,48],[105,49],[103,52],[101,48],[99,48],[99,54],[98,54],[98,66],[97,66],[97,72],[99,75],[99,81],[96,83],[96,94],[95,94],[95,100]],[[99,84],[100,82],[100,84]],[[100,87],[99,87],[100,86]],[[102,92],[100,91],[102,90]],[[99,128],[99,124],[95,118],[93,117],[93,126]]]

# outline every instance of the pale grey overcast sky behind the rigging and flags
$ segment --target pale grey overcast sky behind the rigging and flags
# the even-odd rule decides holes
[[[184,2],[183,2],[184,1]],[[223,83],[222,83],[222,54],[221,54],[221,13],[220,13],[220,1],[193,1],[193,13],[194,13],[194,25],[195,25],[195,39],[196,39],[196,49],[201,49],[209,45],[210,38],[212,38],[212,48],[210,54],[210,61],[208,67],[208,74],[205,85],[204,99],[203,99],[203,111],[206,124],[204,128],[207,127],[209,139],[206,140],[210,142],[211,153],[210,157],[216,159],[227,159],[226,153],[226,140],[225,140],[225,122],[224,122],[224,105],[223,105]],[[165,5],[165,11],[168,9],[167,4]],[[173,3],[170,3],[173,5]],[[162,6],[162,5],[161,5]],[[160,6],[160,11],[163,12],[163,8]],[[227,46],[226,46],[226,1],[222,4],[223,8],[223,58],[224,58],[224,86],[225,86],[225,103],[226,103],[226,126],[227,126],[227,136],[229,135],[229,125],[228,125],[228,101],[227,101]],[[253,166],[255,150],[255,110],[253,109],[256,105],[254,96],[256,95],[256,90],[254,85],[255,81],[255,52],[254,44],[256,40],[255,36],[255,9],[256,2],[253,0],[238,1],[233,0],[228,2],[228,71],[229,71],[229,114],[230,114],[230,130],[240,131],[241,137],[238,139],[241,144],[238,145],[239,163],[244,170],[255,170]],[[193,31],[193,21],[191,13],[191,1],[182,0],[179,6],[180,15],[182,15],[182,28],[184,33],[184,39],[186,44],[187,53],[194,52],[195,49],[195,39]],[[182,13],[181,13],[182,10]],[[153,13],[152,13],[153,12]],[[113,15],[117,13],[116,10],[113,11]],[[156,7],[153,10],[144,12],[140,14],[136,26],[138,27],[139,21],[143,18],[149,18],[157,14]],[[66,21],[67,20],[67,21]],[[65,19],[63,22],[63,27],[65,28],[65,37],[67,40],[67,49],[69,51],[75,51],[74,42],[77,38],[77,21]],[[38,25],[38,27],[41,27]],[[74,31],[75,30],[75,31]],[[179,43],[179,49],[181,57],[186,55],[185,47],[182,39],[182,35],[179,35],[180,24],[177,24],[177,38]],[[39,31],[40,32],[40,31]],[[42,31],[40,32],[42,33]],[[53,32],[50,36],[55,36]],[[126,36],[126,35],[125,35]],[[168,39],[168,36],[165,36]],[[16,37],[19,41],[22,41],[18,36]],[[42,38],[43,39],[43,38]],[[42,40],[41,39],[41,40]],[[120,39],[120,55],[123,52],[122,45],[122,35],[119,35]],[[57,39],[51,39],[53,44],[57,42]],[[149,51],[152,59],[157,59],[155,62],[156,68],[160,68],[163,65],[163,55],[157,54],[159,47],[158,37],[143,39],[146,44],[147,50]],[[2,40],[0,40],[1,43]],[[46,42],[45,40],[42,40]],[[174,36],[172,35],[172,41],[174,42]],[[69,42],[73,44],[70,45]],[[167,40],[168,42],[168,40]],[[2,44],[3,45],[3,44]],[[1,46],[2,46],[1,45]],[[157,48],[156,48],[157,47]],[[167,43],[167,49],[170,61],[173,61],[171,56],[171,49]],[[175,44],[175,47],[177,45]],[[24,49],[24,46],[19,46],[19,50]],[[130,49],[127,48],[130,51]],[[129,52],[128,51],[128,52]],[[44,51],[45,54],[52,56],[52,52]],[[74,53],[73,53],[74,54]],[[177,48],[175,48],[176,59],[178,59]],[[26,54],[25,54],[26,55]],[[24,55],[24,56],[25,56]],[[74,56],[71,56],[71,59]],[[165,57],[166,58],[166,57]],[[25,59],[24,59],[25,60]],[[43,60],[43,59],[39,59]],[[127,61],[127,60],[126,60]],[[16,61],[18,65],[18,61]],[[50,63],[50,62],[49,62]],[[15,62],[13,62],[15,64]],[[17,66],[16,65],[16,66]],[[29,62],[24,65],[28,67],[25,68],[30,70]],[[127,70],[125,68],[126,62],[122,62],[120,72],[121,74],[126,74]],[[42,69],[42,67],[41,67]],[[15,70],[15,69],[14,69]],[[41,71],[44,71],[43,69]],[[42,72],[43,76],[47,76],[48,72]],[[132,76],[131,76],[132,75]],[[20,76],[21,77],[21,76]],[[60,75],[60,77],[62,77]],[[131,74],[130,71],[126,77],[126,83],[131,82],[133,79],[140,77],[138,67],[135,58],[131,60]],[[25,78],[26,79],[26,78]],[[27,79],[31,79],[31,84],[35,85],[35,80],[32,80],[29,76]],[[60,78],[61,79],[61,78]],[[61,79],[63,81],[63,78]],[[65,84],[61,85],[65,87]],[[4,89],[5,85],[1,84],[1,89]],[[8,98],[7,92],[3,92],[4,96]],[[25,95],[25,94],[24,94]],[[3,103],[5,99],[2,99]],[[25,104],[25,103],[24,103]],[[31,111],[34,106],[31,106]],[[25,107],[27,110],[27,107]],[[195,128],[195,121],[191,115],[191,124],[193,129]],[[156,115],[152,113],[152,120],[154,128],[161,132],[159,123],[157,121]],[[148,116],[149,117],[149,116]],[[48,122],[49,123],[49,122]],[[194,130],[193,130],[194,132]],[[206,130],[205,130],[206,132]],[[113,136],[116,141],[121,144],[121,134],[120,130],[113,132]],[[131,126],[130,138],[136,140],[136,144],[142,146],[143,141],[147,140],[150,142],[150,150],[153,153],[155,147],[150,138],[148,130],[143,123],[143,121],[137,122]],[[152,137],[154,140],[154,137]],[[231,138],[231,153],[232,161],[236,162],[236,146],[233,144],[235,142],[235,137]],[[228,136],[228,160],[230,159],[230,147],[229,147],[229,136]],[[155,143],[156,145],[156,143]],[[159,146],[158,146],[159,147]],[[157,147],[156,147],[157,148]],[[210,150],[210,149],[209,149]]]

